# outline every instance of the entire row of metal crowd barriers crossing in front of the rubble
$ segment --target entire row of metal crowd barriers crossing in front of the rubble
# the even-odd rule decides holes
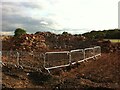
[[[0,64],[13,64],[15,66],[37,68],[44,67],[46,70],[66,67],[101,56],[101,47],[77,49],[61,52],[16,52],[0,51]]]

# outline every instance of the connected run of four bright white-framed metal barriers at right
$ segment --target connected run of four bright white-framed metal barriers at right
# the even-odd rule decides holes
[[[46,52],[44,67],[47,70],[66,67],[92,58],[95,59],[96,56],[101,56],[100,46],[62,52]]]

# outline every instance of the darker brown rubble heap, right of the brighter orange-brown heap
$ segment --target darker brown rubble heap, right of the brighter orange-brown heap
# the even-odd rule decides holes
[[[85,40],[81,35],[54,34],[51,32],[37,32],[36,35],[43,35],[50,50],[71,50],[80,48],[80,42]]]

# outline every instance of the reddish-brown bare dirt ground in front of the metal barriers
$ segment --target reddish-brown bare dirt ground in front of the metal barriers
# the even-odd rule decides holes
[[[13,66],[2,67],[2,88],[119,90],[119,53],[102,53],[96,60],[91,59],[74,66],[50,70],[50,74]]]

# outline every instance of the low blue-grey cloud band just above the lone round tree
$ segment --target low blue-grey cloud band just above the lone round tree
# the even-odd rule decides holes
[[[47,31],[50,30],[50,26],[52,25],[52,21],[45,22],[47,20],[40,19],[36,20],[31,17],[23,17],[23,16],[4,16],[3,17],[3,31],[14,31],[16,28],[21,27],[28,30],[28,32],[36,32],[36,31]]]

